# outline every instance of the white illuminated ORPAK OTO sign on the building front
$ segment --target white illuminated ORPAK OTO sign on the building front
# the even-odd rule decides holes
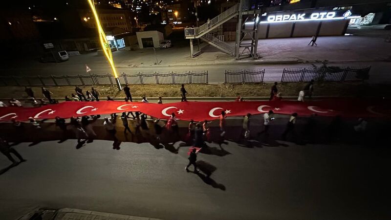
[[[277,22],[305,22],[305,21],[327,21],[327,20],[344,20],[356,19],[361,16],[352,16],[350,11],[329,11],[329,12],[311,12],[303,11],[302,13],[275,13],[262,15],[260,23],[277,23]],[[259,18],[259,17],[258,17]],[[257,18],[257,20],[258,20]],[[250,24],[253,22],[246,22]]]

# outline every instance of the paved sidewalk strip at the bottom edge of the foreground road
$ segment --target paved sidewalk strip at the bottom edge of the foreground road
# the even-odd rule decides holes
[[[58,211],[56,218],[54,220],[160,220],[160,219],[64,208]]]

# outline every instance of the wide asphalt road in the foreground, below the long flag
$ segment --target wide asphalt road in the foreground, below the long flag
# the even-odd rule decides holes
[[[165,220],[390,219],[390,150],[347,145],[246,148],[210,144],[198,160],[211,178],[186,173],[178,154],[148,143],[75,140],[15,148],[27,162],[0,176],[1,220],[32,207],[79,208]],[[283,143],[283,142],[280,142]],[[178,143],[174,145],[178,147]],[[0,155],[0,167],[9,161]],[[193,167],[191,167],[191,170]]]

